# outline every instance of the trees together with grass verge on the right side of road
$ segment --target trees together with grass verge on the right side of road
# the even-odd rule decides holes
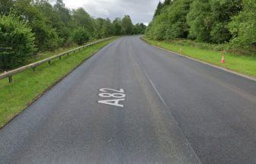
[[[256,76],[254,0],[165,0],[146,29],[149,43]],[[157,41],[157,42],[155,42]]]

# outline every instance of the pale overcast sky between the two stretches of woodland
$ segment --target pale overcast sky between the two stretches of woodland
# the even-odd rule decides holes
[[[92,17],[114,20],[129,14],[133,23],[148,24],[159,0],[63,0],[67,8],[85,8]]]

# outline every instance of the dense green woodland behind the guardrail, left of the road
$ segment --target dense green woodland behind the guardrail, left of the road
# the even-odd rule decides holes
[[[82,45],[91,39],[144,33],[130,16],[114,21],[93,18],[83,8],[70,10],[62,0],[0,1],[0,70],[24,65],[37,52]]]

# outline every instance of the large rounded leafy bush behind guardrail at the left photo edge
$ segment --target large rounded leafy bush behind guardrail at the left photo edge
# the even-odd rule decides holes
[[[8,70],[24,63],[36,52],[34,33],[14,15],[0,17],[0,68]]]

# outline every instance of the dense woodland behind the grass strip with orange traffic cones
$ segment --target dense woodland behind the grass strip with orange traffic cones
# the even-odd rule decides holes
[[[150,39],[192,39],[255,49],[255,0],[165,0],[146,30]]]

